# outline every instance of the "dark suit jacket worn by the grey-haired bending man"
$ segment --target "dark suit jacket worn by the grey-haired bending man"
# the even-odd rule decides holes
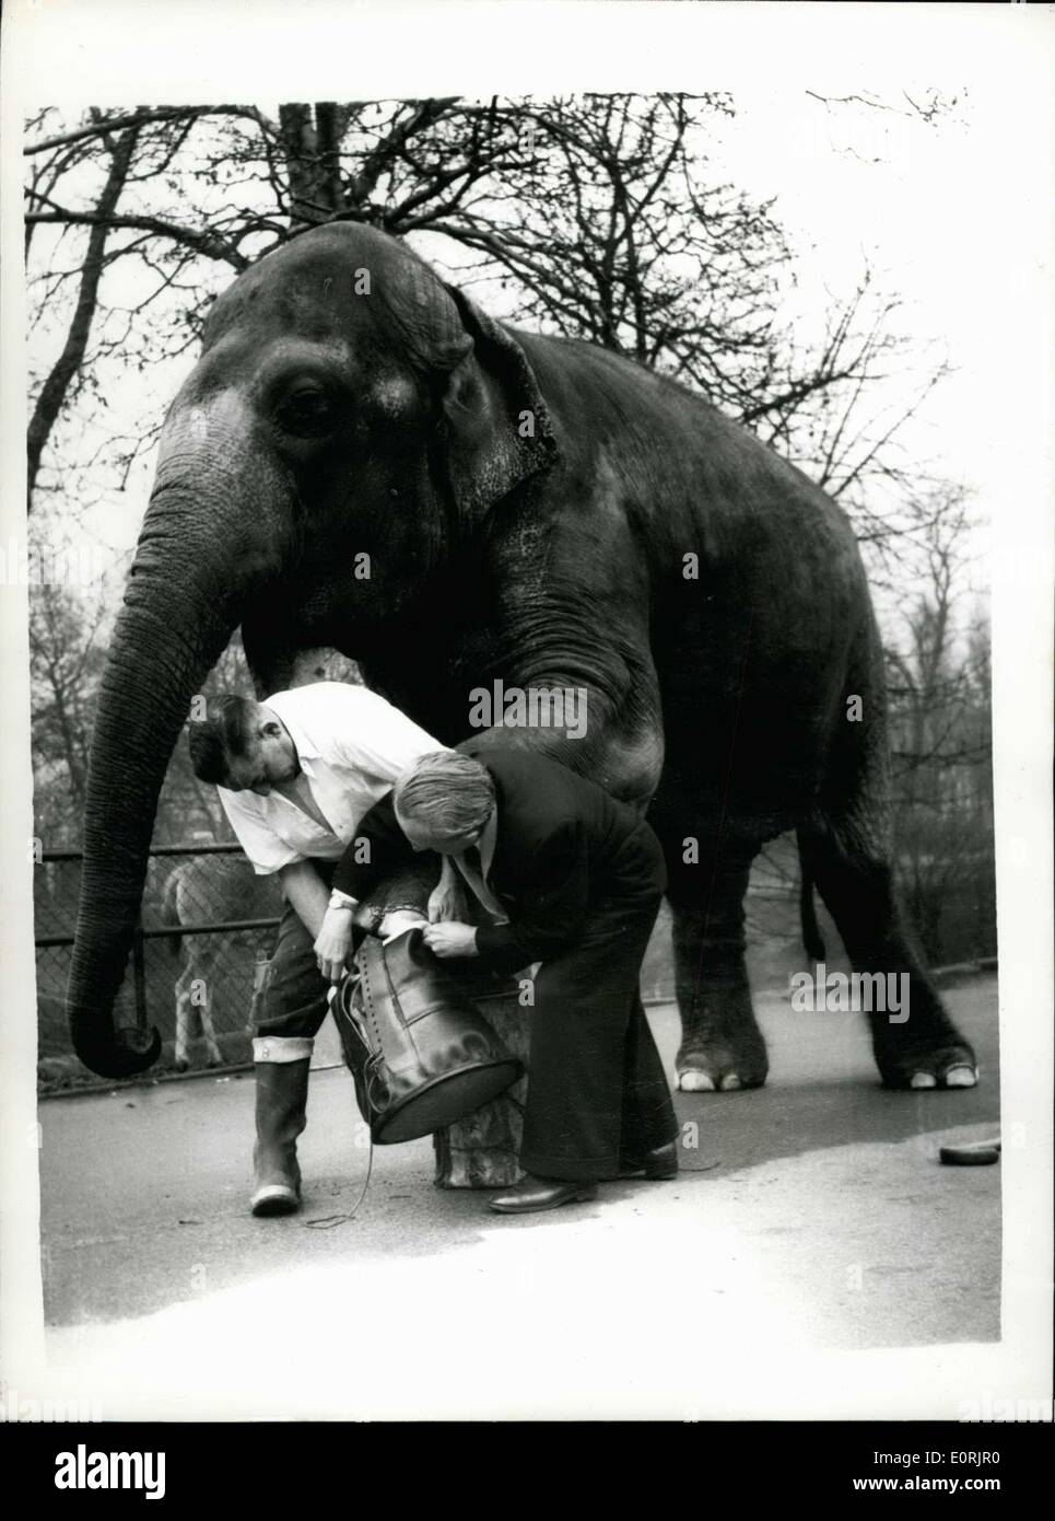
[[[488,882],[509,914],[508,925],[476,931],[483,966],[515,972],[549,961],[575,945],[605,900],[663,891],[660,844],[632,808],[546,756],[480,742],[462,750],[494,779],[499,821]],[[356,861],[363,840],[368,864]],[[389,792],[362,820],[333,885],[363,899],[400,858],[406,859],[406,840]]]

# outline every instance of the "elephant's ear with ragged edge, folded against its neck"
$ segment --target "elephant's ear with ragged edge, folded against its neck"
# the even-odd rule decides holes
[[[556,443],[520,344],[462,291],[447,289],[471,339],[442,397],[447,470],[458,506],[476,517],[550,465]]]

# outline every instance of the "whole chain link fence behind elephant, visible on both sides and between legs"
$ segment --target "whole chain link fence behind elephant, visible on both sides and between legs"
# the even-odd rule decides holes
[[[991,861],[944,893],[939,955],[933,963],[996,957]],[[38,1086],[41,1092],[103,1086],[73,1054],[65,1019],[81,852],[46,852],[35,873]],[[150,852],[140,928],[114,1018],[157,1025],[163,1037],[154,1075],[236,1068],[252,1059],[251,1037],[283,900],[274,876],[257,876],[237,844],[189,841]],[[818,900],[825,945],[838,935]],[[798,856],[790,837],[756,862],[746,899],[748,970],[757,989],[786,989],[804,967],[798,916]],[[673,998],[670,914],[664,905],[642,966],[646,1004]]]

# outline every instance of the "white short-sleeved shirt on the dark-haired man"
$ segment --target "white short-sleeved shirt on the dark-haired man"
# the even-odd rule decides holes
[[[281,792],[268,797],[217,786],[223,812],[258,876],[321,856],[336,861],[359,823],[421,756],[447,750],[377,692],[313,681],[266,698],[296,745],[324,829]]]

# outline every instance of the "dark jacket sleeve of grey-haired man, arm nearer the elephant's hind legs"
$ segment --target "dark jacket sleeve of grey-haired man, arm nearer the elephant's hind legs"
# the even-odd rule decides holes
[[[581,824],[569,820],[535,852],[508,925],[480,925],[476,954],[496,972],[550,961],[576,941],[587,917],[588,852]]]

